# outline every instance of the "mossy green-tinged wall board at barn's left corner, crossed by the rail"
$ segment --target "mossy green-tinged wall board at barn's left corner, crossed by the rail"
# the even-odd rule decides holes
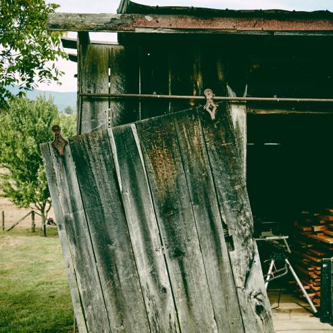
[[[80,52],[78,70],[80,72],[79,92],[109,92],[109,47],[108,45],[88,44]],[[108,128],[108,99],[81,97],[78,114],[78,133],[89,133]]]

